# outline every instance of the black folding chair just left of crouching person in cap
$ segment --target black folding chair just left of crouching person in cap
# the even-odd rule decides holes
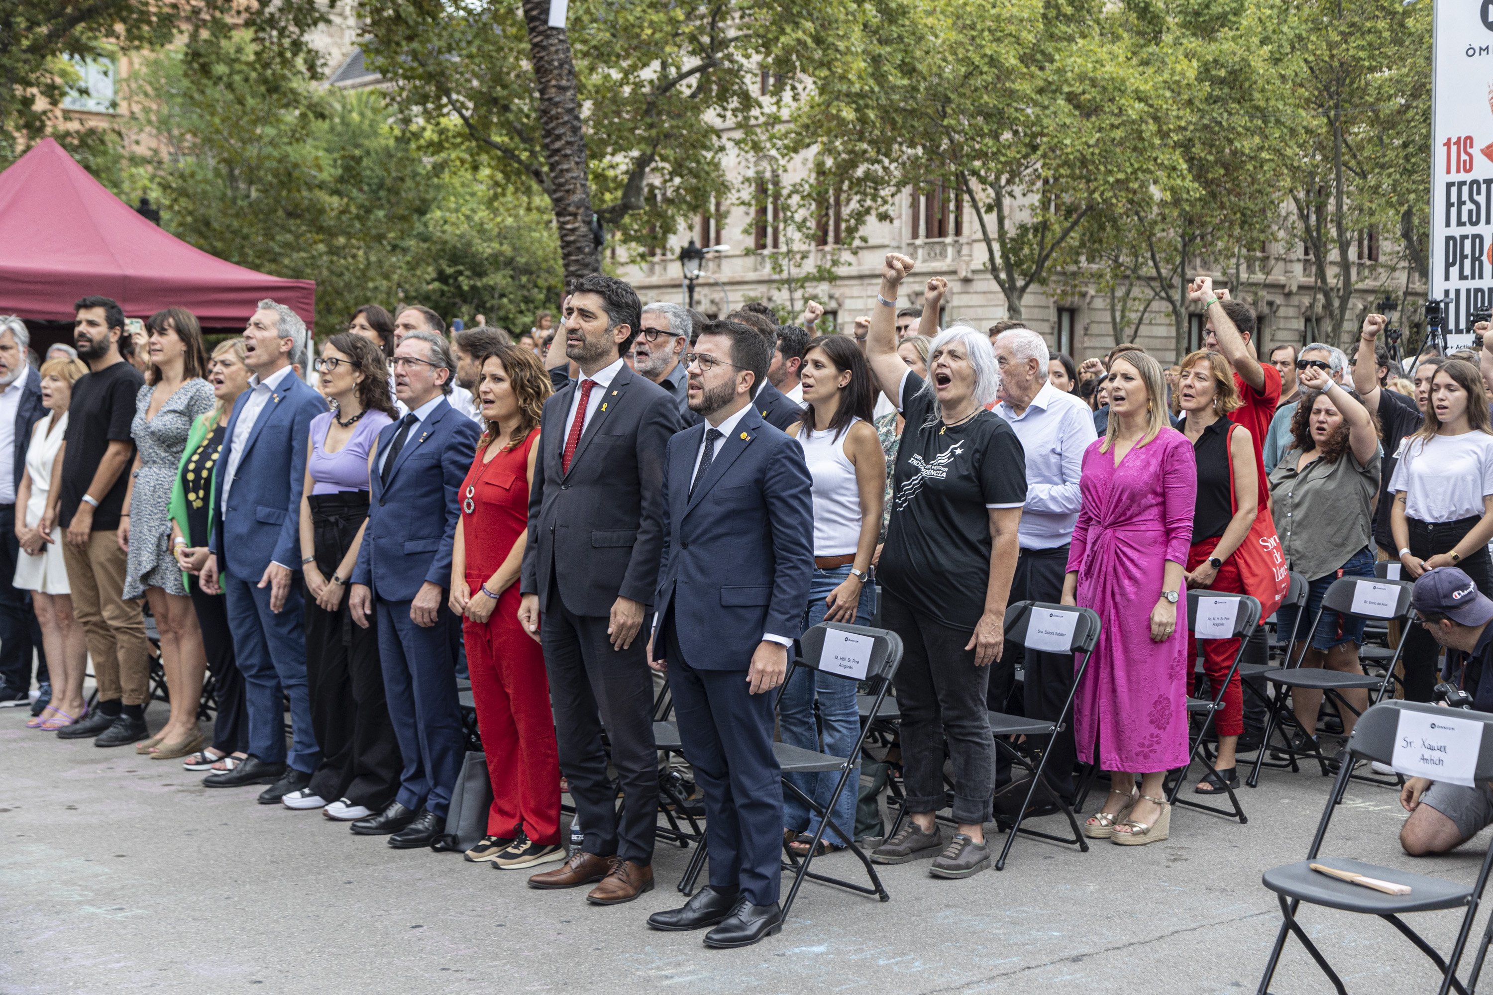
[[[1332,586],[1327,588],[1326,597],[1321,600],[1321,607],[1317,609],[1317,616],[1312,618],[1311,625],[1302,637],[1306,643],[1311,641],[1312,633],[1317,631],[1317,622],[1321,621],[1323,612],[1329,609],[1344,616],[1357,619],[1400,619],[1403,622],[1403,628],[1399,643],[1394,646],[1394,652],[1390,655],[1390,659],[1384,664],[1383,677],[1345,674],[1336,670],[1327,670],[1326,667],[1302,667],[1300,662],[1305,658],[1305,650],[1296,661],[1294,667],[1278,667],[1266,671],[1265,679],[1275,685],[1275,704],[1271,707],[1271,718],[1265,724],[1265,741],[1260,744],[1260,753],[1254,759],[1254,770],[1250,773],[1251,788],[1260,780],[1260,767],[1263,765],[1266,750],[1271,749],[1271,735],[1275,732],[1277,726],[1280,726],[1284,734],[1285,724],[1296,722],[1290,706],[1287,704],[1287,688],[1321,691],[1324,698],[1333,703],[1333,707],[1338,709],[1339,715],[1348,715],[1350,712],[1357,715],[1357,709],[1350,706],[1347,698],[1342,697],[1342,692],[1350,688],[1363,688],[1368,691],[1369,704],[1378,704],[1384,700],[1384,694],[1388,691],[1390,682],[1394,679],[1394,662],[1405,649],[1405,637],[1409,635],[1409,624],[1414,615],[1409,598],[1414,586],[1415,585],[1409,580],[1371,580],[1369,577],[1339,577],[1332,582]],[[1362,603],[1359,603],[1360,597],[1363,598]],[[1354,610],[1356,603],[1359,603],[1359,610]],[[1315,738],[1315,729],[1302,731],[1308,737]],[[1296,750],[1287,737],[1285,743],[1281,746],[1281,752],[1288,756],[1291,773],[1300,770],[1296,764],[1297,756],[1314,756],[1321,770],[1321,776],[1330,777],[1332,774],[1332,771],[1327,770],[1327,758],[1321,755],[1320,744],[1314,744],[1311,752],[1305,753]],[[1383,786],[1399,786],[1403,783],[1403,779],[1399,774],[1396,774],[1391,782],[1381,780],[1378,777],[1365,777],[1362,774],[1351,774],[1351,777],[1371,785]]]

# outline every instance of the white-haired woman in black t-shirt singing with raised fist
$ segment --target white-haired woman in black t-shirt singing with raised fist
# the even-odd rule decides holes
[[[1000,382],[985,333],[939,333],[927,380],[897,355],[897,285],[911,271],[912,260],[887,254],[866,340],[876,380],[906,419],[879,576],[881,625],[903,643],[896,689],[911,816],[870,859],[932,856],[935,877],[969,877],[990,865],[982,826],[996,768],[985,691],[1003,649],[1026,462],[1011,425],[985,409]],[[945,740],[957,823],[947,843],[935,820],[945,806]]]

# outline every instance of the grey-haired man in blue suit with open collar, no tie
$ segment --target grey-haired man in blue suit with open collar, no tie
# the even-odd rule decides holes
[[[218,456],[218,500],[211,513],[202,588],[225,595],[228,630],[243,671],[249,758],[209,774],[208,788],[270,785],[273,804],[311,783],[321,749],[311,728],[306,635],[302,630],[300,491],[311,419],[327,403],[291,364],[305,364],[306,322],[285,304],[260,301],[243,330],[249,389],[239,395]],[[285,695],[291,747],[285,753]]]

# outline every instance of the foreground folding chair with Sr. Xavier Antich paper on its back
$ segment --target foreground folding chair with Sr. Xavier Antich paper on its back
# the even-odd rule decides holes
[[[1493,725],[1493,715],[1483,712],[1465,712],[1460,709],[1447,710],[1414,701],[1386,701],[1371,707],[1359,719],[1359,725],[1353,729],[1353,735],[1348,737],[1348,752],[1354,758],[1378,761],[1381,764],[1393,762],[1394,741],[1399,737],[1399,722],[1403,713],[1421,713],[1435,716],[1436,719],[1457,719],[1481,725],[1481,741],[1474,776],[1478,782],[1493,779],[1493,737],[1490,737],[1487,731],[1487,726]],[[1487,955],[1489,935],[1490,931],[1493,931],[1493,925],[1483,932],[1478,956],[1472,964],[1472,974],[1465,988],[1457,979],[1457,964],[1462,961],[1462,953],[1466,949],[1468,935],[1472,931],[1472,920],[1478,914],[1478,903],[1483,900],[1483,888],[1487,885],[1489,871],[1493,870],[1493,847],[1489,847],[1487,855],[1484,855],[1483,867],[1478,871],[1477,882],[1472,885],[1459,885],[1441,877],[1412,874],[1397,868],[1365,864],[1350,858],[1318,856],[1323,838],[1327,835],[1327,823],[1332,820],[1332,814],[1336,810],[1338,803],[1342,801],[1342,795],[1348,788],[1351,770],[1353,762],[1344,762],[1342,768],[1338,771],[1338,780],[1333,785],[1332,794],[1327,797],[1327,804],[1323,807],[1321,822],[1317,825],[1317,835],[1312,838],[1311,849],[1306,852],[1306,859],[1297,864],[1287,864],[1284,867],[1275,867],[1265,871],[1263,883],[1275,892],[1280,900],[1282,922],[1280,932],[1275,935],[1275,946],[1271,949],[1271,958],[1265,965],[1265,977],[1260,979],[1260,988],[1257,989],[1259,995],[1268,995],[1271,977],[1275,974],[1275,967],[1280,964],[1281,952],[1285,947],[1287,934],[1300,940],[1302,946],[1306,947],[1306,953],[1311,955],[1311,958],[1317,962],[1317,967],[1323,970],[1333,988],[1338,989],[1338,995],[1347,995],[1342,980],[1332,970],[1332,965],[1327,964],[1327,958],[1323,956],[1321,950],[1317,949],[1317,946],[1306,935],[1305,929],[1296,920],[1296,910],[1302,903],[1384,919],[1405,934],[1405,937],[1414,943],[1421,953],[1430,958],[1432,964],[1436,965],[1436,970],[1442,973],[1439,995],[1447,995],[1451,989],[1456,989],[1462,995],[1475,991],[1478,973],[1483,970],[1483,959]],[[1408,895],[1387,895],[1314,871],[1311,870],[1312,864],[1320,864],[1341,871],[1354,871],[1394,885],[1408,885],[1411,891]],[[1462,917],[1462,926],[1457,931],[1457,940],[1451,947],[1451,955],[1445,961],[1436,953],[1430,943],[1427,943],[1420,934],[1411,929],[1403,919],[1400,919],[1402,913],[1459,907],[1466,908],[1466,913]]]

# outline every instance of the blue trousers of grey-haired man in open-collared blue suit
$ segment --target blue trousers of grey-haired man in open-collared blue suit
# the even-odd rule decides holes
[[[270,610],[270,588],[237,574],[222,580],[228,630],[243,671],[249,710],[249,753],[266,764],[290,764],[309,774],[321,762],[311,722],[306,685],[306,615],[300,573],[279,612]],[[285,752],[285,698],[290,698],[291,746]]]

